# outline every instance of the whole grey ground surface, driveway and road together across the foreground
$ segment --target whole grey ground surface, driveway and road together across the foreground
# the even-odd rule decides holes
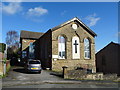
[[[118,88],[117,82],[64,80],[50,70],[26,73],[23,67],[12,67],[7,77],[2,79],[3,88]]]

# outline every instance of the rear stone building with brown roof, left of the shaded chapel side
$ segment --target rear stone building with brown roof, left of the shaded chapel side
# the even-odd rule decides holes
[[[21,44],[21,60],[22,62],[26,62],[30,57],[30,45],[33,44],[37,39],[39,39],[43,33],[39,32],[31,32],[31,31],[25,31],[21,30],[20,33],[20,44]]]

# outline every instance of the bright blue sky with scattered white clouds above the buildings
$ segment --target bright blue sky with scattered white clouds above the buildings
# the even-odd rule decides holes
[[[5,42],[9,30],[46,32],[74,17],[82,20],[98,36],[96,51],[111,41],[118,42],[117,2],[10,2],[2,3],[2,40]],[[118,35],[119,34],[119,35]],[[1,34],[0,34],[1,38]]]

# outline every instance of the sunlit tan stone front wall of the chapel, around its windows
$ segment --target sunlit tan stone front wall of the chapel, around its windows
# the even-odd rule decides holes
[[[93,72],[96,72],[95,65],[95,42],[94,36],[89,34],[84,30],[78,23],[78,29],[75,31],[72,29],[71,25],[75,23],[72,22],[68,25],[65,25],[52,32],[52,55],[58,55],[58,37],[62,35],[66,39],[66,58],[52,58],[52,69],[53,70],[62,70],[62,66],[68,66],[75,68],[76,66],[91,68]],[[80,59],[72,58],[72,38],[74,36],[79,37],[80,39]],[[91,43],[91,58],[84,58],[84,38],[88,38]]]

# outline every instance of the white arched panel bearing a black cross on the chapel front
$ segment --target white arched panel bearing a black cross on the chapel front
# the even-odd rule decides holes
[[[77,36],[72,38],[72,57],[73,59],[80,59],[80,42]]]

